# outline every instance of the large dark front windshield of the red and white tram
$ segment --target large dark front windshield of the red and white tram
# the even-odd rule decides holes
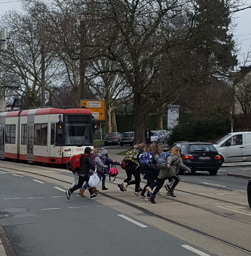
[[[92,117],[91,115],[65,116],[65,145],[92,145]]]

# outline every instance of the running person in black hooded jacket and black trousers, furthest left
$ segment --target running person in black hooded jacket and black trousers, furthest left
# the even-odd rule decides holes
[[[81,188],[84,184],[84,182],[86,181],[88,183],[89,181],[89,170],[92,169],[93,171],[96,170],[95,165],[92,161],[91,158],[91,148],[90,147],[86,147],[84,149],[84,155],[81,157],[81,162],[80,162],[80,168],[78,168],[77,173],[78,173],[78,184],[75,185],[73,188],[70,188],[68,191],[65,191],[66,193],[66,197],[68,200],[70,200],[70,195],[73,191]],[[95,197],[98,196],[98,194],[93,194],[92,192],[92,188],[88,185],[88,190],[90,192],[91,195],[91,199],[94,199]]]

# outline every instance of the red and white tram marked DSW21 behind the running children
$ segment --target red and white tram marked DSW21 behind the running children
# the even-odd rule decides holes
[[[43,107],[0,112],[0,158],[65,164],[93,149],[92,112],[75,107]]]

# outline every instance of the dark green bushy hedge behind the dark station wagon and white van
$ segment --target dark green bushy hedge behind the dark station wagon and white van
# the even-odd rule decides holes
[[[230,132],[230,123],[222,116],[187,116],[179,118],[179,124],[174,127],[168,144],[176,141],[210,141],[224,136]]]

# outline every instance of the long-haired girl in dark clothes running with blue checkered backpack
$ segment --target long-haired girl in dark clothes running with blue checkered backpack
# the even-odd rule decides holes
[[[147,193],[145,197],[146,188],[154,183],[155,180],[158,180],[159,169],[157,168],[156,164],[159,158],[159,151],[158,151],[158,144],[153,143],[149,146],[149,152],[152,152],[152,163],[149,166],[145,166],[142,168],[144,172],[143,179],[147,180],[147,184],[144,186],[140,197],[145,198],[148,201],[150,194]]]

